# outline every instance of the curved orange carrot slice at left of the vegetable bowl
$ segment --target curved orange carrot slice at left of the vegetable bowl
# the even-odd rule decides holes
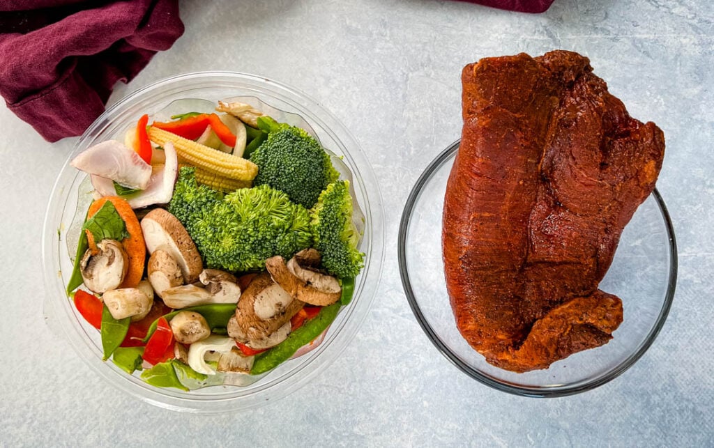
[[[136,287],[144,275],[144,262],[146,261],[144,233],[141,233],[139,219],[136,218],[136,213],[134,213],[131,205],[129,205],[126,200],[119,198],[119,196],[104,196],[103,198],[95,200],[89,205],[87,218],[91,218],[94,213],[97,213],[107,200],[114,205],[116,213],[119,213],[121,219],[124,220],[126,231],[129,232],[129,238],[125,238],[121,241],[121,244],[124,246],[124,251],[126,252],[129,268],[127,268],[124,281],[121,282],[119,287]]]

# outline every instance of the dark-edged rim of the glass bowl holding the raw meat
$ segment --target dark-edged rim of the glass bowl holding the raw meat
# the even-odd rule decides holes
[[[478,382],[483,383],[484,385],[493,387],[496,390],[500,390],[501,392],[508,392],[510,394],[515,394],[521,397],[565,397],[568,395],[593,390],[596,387],[604,385],[605,383],[610,382],[611,380],[620,376],[623,372],[625,372],[625,370],[628,370],[630,367],[632,367],[635,362],[637,362],[640,357],[642,357],[642,355],[645,354],[645,352],[655,341],[660,330],[662,330],[662,327],[665,323],[665,320],[667,320],[667,316],[669,314],[670,307],[673,302],[677,284],[677,243],[675,240],[674,227],[672,224],[672,220],[670,219],[667,207],[665,206],[664,200],[657,188],[653,189],[652,195],[663,217],[665,223],[665,230],[667,231],[669,243],[668,250],[670,269],[667,291],[665,292],[665,299],[660,309],[660,313],[657,317],[657,320],[655,321],[655,325],[650,328],[650,331],[648,332],[647,337],[643,341],[643,344],[639,347],[638,350],[630,354],[628,357],[625,357],[624,360],[620,361],[618,365],[616,365],[609,372],[606,372],[604,375],[601,375],[600,377],[595,378],[594,380],[580,382],[578,385],[575,386],[565,385],[556,387],[535,387],[507,384],[505,382],[499,382],[498,380],[494,380],[493,378],[488,377],[487,375],[483,375],[481,372],[474,369],[466,362],[463,362],[456,355],[456,353],[449,349],[446,343],[441,340],[441,337],[439,337],[436,331],[433,330],[431,325],[429,325],[429,322],[426,320],[426,317],[423,315],[423,312],[421,312],[421,308],[419,307],[418,300],[416,299],[416,295],[414,294],[411,281],[409,280],[409,273],[406,262],[406,235],[409,228],[409,224],[411,222],[411,213],[413,212],[413,208],[414,205],[416,205],[417,200],[421,197],[421,192],[423,190],[424,185],[426,185],[426,183],[431,180],[431,175],[433,175],[434,171],[437,168],[441,167],[441,165],[448,158],[451,158],[451,156],[453,156],[453,154],[458,151],[460,143],[461,138],[451,143],[443,151],[441,151],[441,153],[436,156],[436,158],[434,158],[431,163],[429,163],[426,169],[423,170],[419,178],[416,180],[416,183],[414,184],[411,192],[409,193],[409,196],[406,200],[406,204],[404,205],[401,221],[399,223],[399,233],[397,238],[399,275],[401,277],[402,287],[409,302],[409,306],[411,307],[411,310],[414,316],[416,317],[418,324],[421,326],[423,332],[426,333],[428,339],[431,341],[434,347],[436,347],[436,349],[441,352],[441,355],[446,357],[449,362],[455,365],[462,372],[466,373],[466,375],[470,376],[474,380],[477,380]]]

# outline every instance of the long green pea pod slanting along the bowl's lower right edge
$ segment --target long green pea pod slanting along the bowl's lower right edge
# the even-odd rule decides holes
[[[320,314],[305,322],[302,327],[291,332],[286,340],[270,350],[256,355],[253,361],[251,375],[268,372],[268,370],[274,369],[281,364],[281,362],[288,360],[289,357],[298,351],[298,348],[308,344],[318,337],[321,332],[325,331],[333,320],[335,320],[335,317],[337,317],[340,307],[339,302],[323,307],[323,309],[320,310]]]

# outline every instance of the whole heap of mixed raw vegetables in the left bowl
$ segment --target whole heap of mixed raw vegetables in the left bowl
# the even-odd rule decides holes
[[[253,106],[142,116],[88,148],[67,293],[104,360],[157,387],[249,384],[320,344],[363,268],[349,180]]]

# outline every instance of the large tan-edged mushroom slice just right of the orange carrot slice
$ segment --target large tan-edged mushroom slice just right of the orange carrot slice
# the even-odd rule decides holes
[[[141,220],[146,249],[150,254],[165,250],[181,268],[183,280],[193,283],[203,270],[201,255],[181,221],[163,208],[154,208]]]

